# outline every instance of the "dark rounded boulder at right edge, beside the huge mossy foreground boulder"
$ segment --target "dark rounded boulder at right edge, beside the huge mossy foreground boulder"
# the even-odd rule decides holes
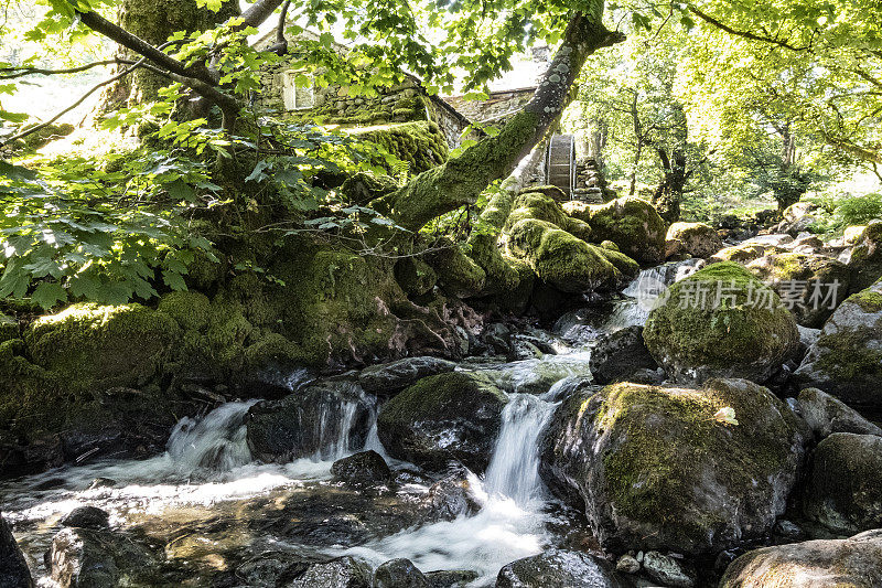
[[[882,437],[835,432],[818,443],[803,510],[840,533],[882,527]]]

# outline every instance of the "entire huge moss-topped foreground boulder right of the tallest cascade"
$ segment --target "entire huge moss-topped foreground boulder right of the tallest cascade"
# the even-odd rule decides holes
[[[604,547],[699,554],[773,527],[804,441],[789,408],[745,379],[712,379],[701,391],[583,385],[540,440],[540,473],[584,509]]]

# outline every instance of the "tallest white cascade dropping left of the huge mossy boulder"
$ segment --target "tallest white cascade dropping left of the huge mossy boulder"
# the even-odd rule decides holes
[[[530,394],[514,394],[503,409],[503,426],[484,480],[490,494],[527,506],[545,496],[539,479],[539,435],[553,404]]]

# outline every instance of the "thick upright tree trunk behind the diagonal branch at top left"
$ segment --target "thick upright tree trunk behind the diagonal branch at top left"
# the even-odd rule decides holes
[[[198,8],[196,0],[122,0],[117,23],[151,45],[159,46],[176,31],[207,31],[238,14],[239,6],[235,0],[225,0],[217,12]],[[119,49],[118,55],[127,60],[141,56],[125,47]],[[126,67],[123,65],[121,70]],[[158,90],[169,83],[168,77],[149,70],[138,70],[110,86],[103,96],[99,114],[154,100]]]

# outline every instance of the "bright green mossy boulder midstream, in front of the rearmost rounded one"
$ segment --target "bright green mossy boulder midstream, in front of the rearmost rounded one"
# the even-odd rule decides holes
[[[525,218],[510,228],[507,250],[527,261],[540,280],[569,293],[616,288],[639,270],[625,255],[589,245],[536,218]]]

